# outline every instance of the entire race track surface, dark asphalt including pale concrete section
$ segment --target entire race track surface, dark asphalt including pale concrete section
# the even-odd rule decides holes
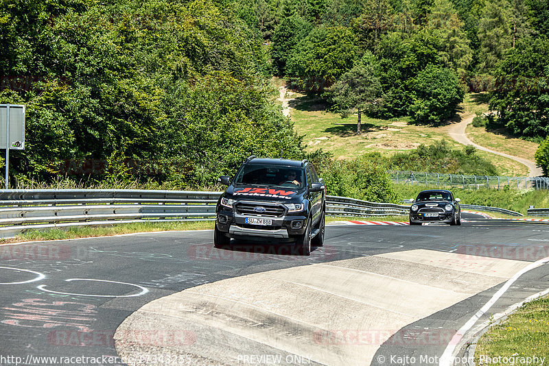
[[[549,225],[463,219],[329,225],[309,257],[211,230],[2,245],[0,365],[439,365],[549,288]]]

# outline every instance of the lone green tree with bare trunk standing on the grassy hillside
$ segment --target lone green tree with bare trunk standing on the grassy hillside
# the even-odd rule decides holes
[[[375,62],[368,55],[364,62],[359,62],[353,69],[344,73],[329,92],[329,101],[347,117],[354,110],[358,113],[356,133],[360,130],[362,113],[378,110],[382,103],[382,86],[375,75]]]

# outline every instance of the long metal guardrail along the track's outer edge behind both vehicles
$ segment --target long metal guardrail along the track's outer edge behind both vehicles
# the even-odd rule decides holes
[[[220,195],[220,192],[128,189],[0,190],[0,237],[15,236],[29,229],[78,225],[213,220],[215,204]],[[461,206],[521,215],[502,208]],[[347,197],[327,196],[326,199],[326,213],[329,216],[406,216],[409,208],[406,205],[367,202]],[[546,211],[549,215],[549,209]]]

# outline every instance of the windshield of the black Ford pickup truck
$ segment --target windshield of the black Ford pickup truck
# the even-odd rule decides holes
[[[301,169],[284,165],[246,164],[236,175],[235,184],[268,186],[303,186]]]

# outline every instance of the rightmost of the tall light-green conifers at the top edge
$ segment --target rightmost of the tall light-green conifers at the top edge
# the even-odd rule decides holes
[[[507,0],[488,1],[478,23],[478,69],[492,73],[513,46],[511,5]]]

